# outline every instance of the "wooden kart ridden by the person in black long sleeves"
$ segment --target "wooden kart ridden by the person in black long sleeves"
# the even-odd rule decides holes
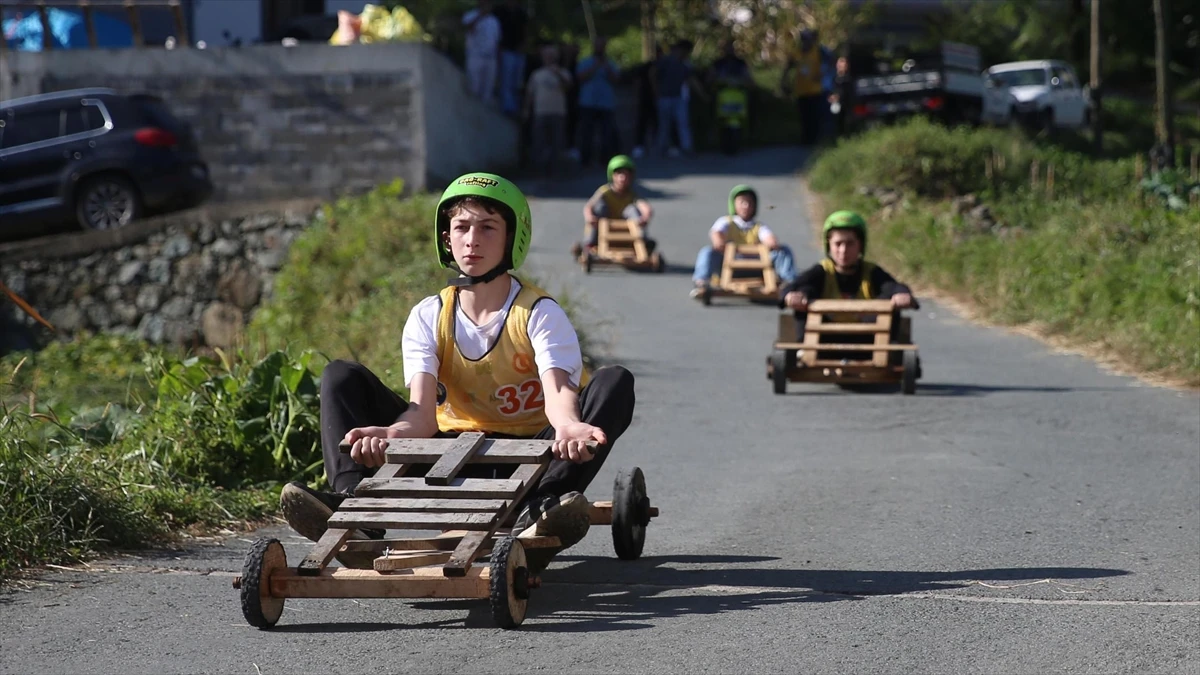
[[[893,312],[890,300],[812,300],[803,342],[796,340],[792,312],[781,312],[767,380],[776,394],[786,393],[788,382],[899,382],[905,394],[916,393],[920,357],[912,344],[912,321],[899,317],[892,341]],[[864,339],[869,342],[859,341]]]

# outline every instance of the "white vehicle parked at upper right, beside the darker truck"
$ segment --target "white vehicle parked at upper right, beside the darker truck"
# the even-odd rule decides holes
[[[1066,61],[997,64],[983,73],[983,121],[1038,130],[1087,126],[1092,101]]]

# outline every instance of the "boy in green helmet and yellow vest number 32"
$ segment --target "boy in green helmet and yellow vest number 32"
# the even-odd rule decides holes
[[[413,307],[404,323],[410,400],[362,364],[330,363],[320,377],[320,432],[332,490],[290,483],[280,496],[281,510],[296,532],[319,539],[334,510],[384,464],[389,438],[482,431],[553,440],[554,459],[514,526],[521,537],[562,540],[560,549],[529,551],[536,572],[588,531],[583,490],[632,420],[634,376],[622,366],[589,375],[563,307],[511,274],[524,262],[533,233],[529,204],[511,181],[490,173],[456,179],[437,205],[434,233],[438,262],[458,276]],[[593,452],[589,441],[600,446]],[[349,454],[338,450],[342,442],[352,444]],[[460,474],[472,470],[484,471],[468,465]],[[373,557],[343,552],[338,560],[370,568]]]

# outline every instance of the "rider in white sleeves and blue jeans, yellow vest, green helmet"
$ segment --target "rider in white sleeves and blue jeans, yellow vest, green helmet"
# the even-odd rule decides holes
[[[769,227],[758,220],[758,193],[749,185],[734,185],[730,190],[730,213],[716,219],[708,229],[709,245],[696,256],[696,268],[691,279],[695,288],[691,297],[703,295],[713,276],[725,265],[726,244],[763,244],[770,249],[770,262],[781,283],[796,279],[796,259],[792,249],[780,244]]]

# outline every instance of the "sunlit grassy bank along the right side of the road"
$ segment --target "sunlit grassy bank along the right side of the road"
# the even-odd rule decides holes
[[[988,157],[1003,156],[988,177]],[[1055,165],[1054,191],[1031,186]],[[1044,179],[1043,179],[1044,180]],[[894,274],[970,300],[1002,324],[1036,324],[1124,365],[1200,386],[1200,209],[1169,174],[1148,192],[1134,161],[1093,160],[1001,130],[947,130],[923,120],[875,130],[823,153],[811,185],[838,208],[874,214],[872,257]],[[905,195],[884,209],[860,186]],[[952,208],[976,193],[997,226]],[[1168,204],[1165,193],[1175,195]],[[1172,208],[1174,207],[1174,208]]]

